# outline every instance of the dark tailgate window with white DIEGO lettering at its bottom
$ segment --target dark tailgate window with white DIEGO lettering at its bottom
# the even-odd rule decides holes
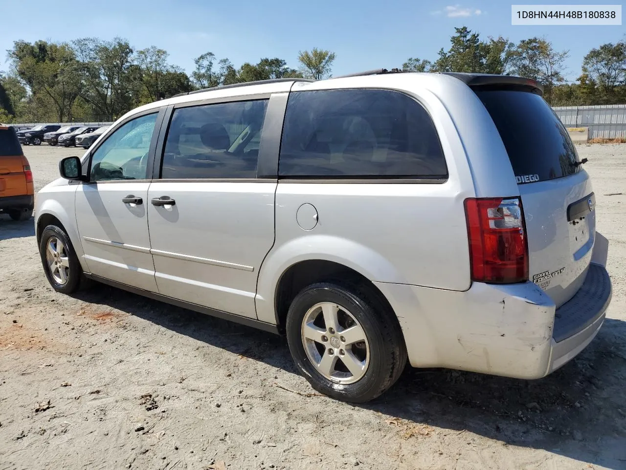
[[[518,184],[561,178],[578,171],[567,129],[539,95],[476,90],[500,132]]]

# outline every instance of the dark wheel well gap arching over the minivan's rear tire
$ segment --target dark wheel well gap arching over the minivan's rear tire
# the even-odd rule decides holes
[[[334,282],[339,285],[357,285],[367,293],[374,295],[393,313],[391,304],[382,292],[363,274],[340,263],[324,259],[309,259],[290,266],[280,277],[275,296],[277,326],[281,332],[285,329],[285,320],[289,306],[302,289],[319,282]],[[394,315],[396,321],[398,318]]]

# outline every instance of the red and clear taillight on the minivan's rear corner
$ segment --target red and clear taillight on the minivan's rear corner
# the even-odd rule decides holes
[[[528,246],[521,201],[465,200],[471,279],[485,283],[528,280]]]

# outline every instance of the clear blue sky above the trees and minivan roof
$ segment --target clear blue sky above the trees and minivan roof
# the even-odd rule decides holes
[[[467,26],[482,38],[545,36],[557,50],[570,50],[569,80],[580,74],[588,50],[614,43],[626,32],[624,26],[511,26],[511,3],[496,0],[0,0],[0,26],[0,70],[9,68],[4,51],[17,39],[121,36],[136,49],[155,45],[167,50],[170,63],[188,72],[193,58],[205,51],[235,66],[279,57],[296,67],[298,51],[324,48],[337,54],[334,75],[393,68],[411,56],[433,60],[439,48],[448,49],[454,27]]]

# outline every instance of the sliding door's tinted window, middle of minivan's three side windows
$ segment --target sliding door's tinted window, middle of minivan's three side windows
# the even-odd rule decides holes
[[[161,177],[255,178],[267,100],[174,111]]]

